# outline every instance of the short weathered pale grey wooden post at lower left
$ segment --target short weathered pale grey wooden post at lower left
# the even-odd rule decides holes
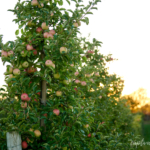
[[[7,150],[22,150],[21,136],[18,132],[7,132]]]

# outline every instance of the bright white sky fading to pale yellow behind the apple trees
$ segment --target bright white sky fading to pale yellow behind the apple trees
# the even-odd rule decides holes
[[[18,0],[0,1],[0,34],[3,42],[16,39],[18,25],[8,9],[13,9]],[[85,1],[85,0],[84,0]],[[73,2],[74,3],[74,2]],[[87,0],[84,4],[87,3]],[[122,94],[131,94],[140,87],[147,89],[150,97],[150,0],[102,0],[94,15],[88,15],[89,25],[81,24],[83,37],[96,38],[103,42],[100,53],[112,54],[118,60],[109,63],[110,74],[116,73],[124,82]],[[64,8],[71,8],[66,3]],[[5,84],[6,67],[0,60],[0,85]]]

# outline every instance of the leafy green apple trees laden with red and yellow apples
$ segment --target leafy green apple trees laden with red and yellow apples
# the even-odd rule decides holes
[[[75,11],[62,8],[63,0],[18,0],[9,10],[19,29],[15,41],[4,44],[0,37],[1,58],[8,63],[0,101],[1,148],[6,149],[8,131],[21,134],[24,149],[131,147],[124,136],[132,116],[118,101],[122,81],[105,67],[113,58],[99,53],[100,41],[77,36],[100,0],[87,6],[66,0],[71,1]]]

